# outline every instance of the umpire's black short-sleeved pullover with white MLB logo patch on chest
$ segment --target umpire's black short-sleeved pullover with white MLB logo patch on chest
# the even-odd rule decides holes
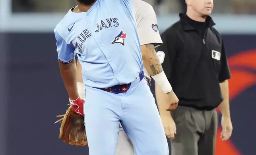
[[[223,101],[219,83],[231,77],[221,35],[211,17],[197,22],[180,13],[180,20],[161,34],[163,70],[179,105],[212,110]]]

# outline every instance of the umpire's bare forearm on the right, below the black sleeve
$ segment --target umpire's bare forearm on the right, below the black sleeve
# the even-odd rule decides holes
[[[230,109],[229,109],[229,82],[225,80],[224,82],[219,84],[221,87],[221,93],[223,96],[223,101],[219,105],[219,110],[223,117],[230,117]]]

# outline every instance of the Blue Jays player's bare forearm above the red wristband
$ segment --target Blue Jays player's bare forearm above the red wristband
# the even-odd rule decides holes
[[[76,100],[78,98],[76,60],[73,59],[68,64],[64,64],[59,60],[59,67],[70,100]]]

